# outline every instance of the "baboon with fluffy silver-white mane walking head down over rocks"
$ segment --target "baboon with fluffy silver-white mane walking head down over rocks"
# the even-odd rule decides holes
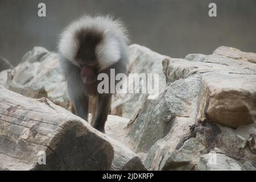
[[[89,96],[96,97],[93,127],[102,132],[105,132],[112,94],[99,94],[99,81],[85,84],[82,77],[94,77],[97,72],[95,76],[106,73],[110,78],[110,68],[115,69],[115,74],[127,73],[126,32],[123,24],[111,16],[83,16],[65,28],[60,36],[60,65],[76,115],[88,121]],[[93,68],[88,67],[91,64]]]

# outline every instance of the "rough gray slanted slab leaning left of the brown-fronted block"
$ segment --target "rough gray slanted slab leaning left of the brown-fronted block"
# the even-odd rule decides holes
[[[136,152],[147,152],[156,140],[171,129],[175,117],[196,117],[200,75],[177,80],[156,100],[147,100],[128,133]]]

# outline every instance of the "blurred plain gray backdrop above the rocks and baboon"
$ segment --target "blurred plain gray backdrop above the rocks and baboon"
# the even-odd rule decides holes
[[[40,2],[46,18],[38,17]],[[217,18],[208,16],[210,2]],[[121,17],[131,43],[171,57],[219,46],[256,52],[255,0],[0,0],[0,55],[16,65],[34,46],[55,51],[61,29],[85,13]]]

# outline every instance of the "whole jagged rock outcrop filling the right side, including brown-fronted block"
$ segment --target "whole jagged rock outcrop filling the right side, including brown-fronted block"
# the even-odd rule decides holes
[[[228,55],[216,53],[224,48]],[[221,47],[213,55],[163,60],[167,86],[146,101],[127,134],[133,150],[146,155],[148,169],[255,170],[253,55]],[[207,163],[210,152],[217,166]]]

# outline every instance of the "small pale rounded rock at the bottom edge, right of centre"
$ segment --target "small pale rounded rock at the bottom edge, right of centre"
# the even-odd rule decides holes
[[[200,171],[241,171],[240,164],[224,154],[205,154],[201,156],[197,164],[197,170]]]

